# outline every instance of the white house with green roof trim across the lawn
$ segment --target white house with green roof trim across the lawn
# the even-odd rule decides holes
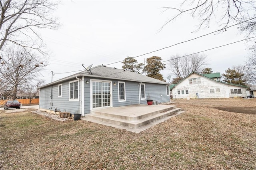
[[[246,97],[246,86],[217,81],[220,73],[202,75],[190,73],[172,87],[172,98],[230,98]]]

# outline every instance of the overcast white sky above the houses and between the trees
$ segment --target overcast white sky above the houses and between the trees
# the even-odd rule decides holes
[[[58,30],[40,32],[48,49],[52,51],[48,66],[41,73],[44,76],[41,76],[42,79],[50,83],[51,71],[55,73],[53,81],[56,81],[76,73],[65,72],[84,69],[82,63],[85,67],[91,64],[93,67],[107,65],[124,60],[128,56],[136,57],[220,29],[218,24],[212,21],[209,28],[195,33],[193,31],[196,30],[198,20],[185,14],[170,22],[159,32],[168,18],[176,14],[171,10],[162,13],[164,10],[162,7],[178,7],[180,2],[177,0],[62,1],[54,13],[62,26]],[[241,35],[234,26],[224,32],[181,43],[136,59],[139,63],[144,63],[144,59],[146,61],[148,57],[159,56],[162,61],[166,61],[172,55],[196,53],[243,38],[244,35]],[[228,67],[244,63],[245,57],[249,55],[246,51],[248,45],[246,42],[239,42],[204,52],[208,63],[205,67],[222,74]],[[164,63],[166,69],[161,73],[167,80],[168,75],[172,74],[168,69],[168,62]],[[122,69],[121,62],[108,66]]]

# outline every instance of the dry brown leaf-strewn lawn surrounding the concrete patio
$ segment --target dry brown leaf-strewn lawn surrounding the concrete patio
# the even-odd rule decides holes
[[[256,115],[214,108],[256,99],[174,101],[186,112],[139,134],[2,112],[0,169],[256,169]]]

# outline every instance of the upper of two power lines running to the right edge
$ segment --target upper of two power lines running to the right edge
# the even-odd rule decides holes
[[[251,18],[250,20],[253,20],[253,19],[255,19],[255,18],[256,18],[256,17]],[[246,21],[244,21],[244,22],[248,22],[248,21],[250,21],[250,20],[246,20]],[[143,55],[147,55],[147,54],[150,54],[150,53],[154,53],[154,52],[160,51],[160,50],[162,50],[162,49],[170,48],[170,47],[173,47],[173,46],[178,45],[178,44],[181,44],[181,43],[190,42],[190,41],[192,41],[192,40],[196,40],[196,39],[198,39],[198,38],[201,38],[201,37],[204,37],[204,36],[208,36],[208,35],[213,34],[213,33],[215,33],[215,32],[220,32],[220,31],[222,31],[222,30],[226,30],[227,28],[230,28],[230,27],[233,27],[233,26],[242,24],[242,23],[244,23],[244,22],[240,22],[240,23],[238,23],[238,24],[234,24],[234,25],[232,25],[232,26],[228,26],[228,27],[226,27],[226,28],[222,28],[222,29],[220,29],[220,30],[217,30],[217,31],[214,31],[214,32],[210,32],[210,33],[208,33],[208,34],[204,34],[204,35],[202,35],[202,36],[199,36],[199,37],[196,37],[196,38],[192,38],[192,39],[186,40],[186,41],[184,41],[184,42],[179,42],[179,43],[170,45],[170,46],[168,46],[168,47],[164,47],[164,48],[161,48],[161,49],[157,49],[157,50],[154,50],[154,51],[151,51],[151,52],[148,52],[148,53],[144,53],[144,54],[142,54],[142,55],[137,55],[137,56],[135,56],[135,57],[133,57],[133,58],[140,57],[140,56],[143,56]],[[124,60],[122,60],[122,61],[124,61]],[[122,62],[122,61],[117,61],[117,62],[110,63],[110,64],[106,64],[106,65],[111,65],[111,64],[115,64],[115,63],[120,63],[120,62]]]

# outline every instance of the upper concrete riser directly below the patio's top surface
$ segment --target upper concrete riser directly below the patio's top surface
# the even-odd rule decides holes
[[[159,113],[168,112],[172,109],[176,109],[176,106],[170,107],[168,109],[162,109],[160,111],[155,111],[155,112],[152,112],[152,113],[148,113],[148,114],[145,114],[145,115],[141,115],[141,116],[138,116],[138,117],[128,117],[128,116],[122,116],[122,115],[114,115],[114,114],[102,113],[102,112],[98,112],[98,111],[91,111],[91,113],[95,114],[95,115],[102,115],[102,116],[105,116],[105,117],[112,117],[112,118],[116,118],[116,119],[136,121],[136,120],[139,120],[139,119],[144,119],[146,117],[157,115]]]

